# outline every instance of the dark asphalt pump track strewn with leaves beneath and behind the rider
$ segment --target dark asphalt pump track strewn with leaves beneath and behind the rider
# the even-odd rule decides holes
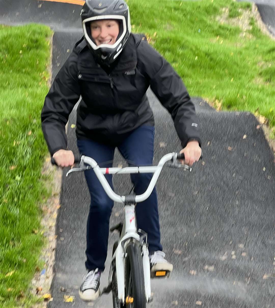
[[[41,6],[40,6],[41,4]],[[53,78],[82,36],[81,7],[73,4],[0,0],[0,22],[40,22],[54,30]],[[148,90],[156,121],[154,161],[180,149],[168,112]],[[153,280],[154,300],[149,307],[274,307],[274,205],[273,153],[258,122],[248,112],[216,112],[200,98],[192,98],[200,123],[204,163],[191,173],[165,168],[157,183],[162,244],[174,271],[169,280]],[[75,110],[68,124],[69,147],[77,153]],[[243,136],[247,135],[246,139]],[[231,147],[231,151],[228,150]],[[121,156],[116,152],[115,163]],[[265,171],[264,171],[264,170]],[[125,176],[114,178],[117,192],[130,189]],[[111,307],[111,295],[87,304],[78,297],[85,274],[85,233],[89,194],[83,174],[62,178],[57,217],[55,276],[49,308]],[[110,225],[121,221],[115,204]],[[62,229],[62,232],[60,230]],[[110,253],[116,234],[110,234]],[[266,278],[266,279],[264,279]],[[66,292],[60,292],[64,287]],[[64,295],[75,301],[64,303]],[[196,304],[197,303],[197,304]]]

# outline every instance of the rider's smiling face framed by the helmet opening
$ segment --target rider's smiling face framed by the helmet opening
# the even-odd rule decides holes
[[[91,22],[91,33],[96,46],[101,44],[112,45],[116,42],[119,33],[119,23],[114,19],[102,19]]]

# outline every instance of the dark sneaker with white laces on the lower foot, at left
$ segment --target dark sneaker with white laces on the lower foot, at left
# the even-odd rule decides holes
[[[84,282],[79,288],[79,296],[85,302],[95,301],[99,297],[99,285],[100,285],[101,272],[91,270],[85,277]]]

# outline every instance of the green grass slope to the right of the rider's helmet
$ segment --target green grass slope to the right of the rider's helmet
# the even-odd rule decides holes
[[[222,110],[256,111],[275,125],[275,42],[253,18],[244,37],[239,26],[216,21],[251,4],[231,0],[128,0],[133,32],[149,42],[175,68],[191,96]],[[231,19],[230,17],[228,19]],[[215,103],[216,102],[216,103]]]

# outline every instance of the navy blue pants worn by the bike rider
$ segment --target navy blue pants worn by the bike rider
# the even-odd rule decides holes
[[[98,164],[113,160],[115,146],[102,144],[93,140],[77,140],[81,154],[90,156]],[[135,165],[153,163],[154,156],[154,127],[141,126],[134,130],[123,142],[116,145],[121,155],[135,163]],[[111,164],[102,166],[112,167]],[[93,170],[84,172],[91,195],[91,205],[87,221],[87,270],[104,270],[107,257],[109,220],[113,208],[113,200],[105,193]],[[152,173],[131,174],[134,192],[140,195],[146,191]],[[113,189],[112,175],[105,175]],[[126,192],[125,192],[126,193]],[[158,201],[156,188],[150,197],[136,206],[137,228],[148,233],[149,251],[162,250],[158,220]]]

